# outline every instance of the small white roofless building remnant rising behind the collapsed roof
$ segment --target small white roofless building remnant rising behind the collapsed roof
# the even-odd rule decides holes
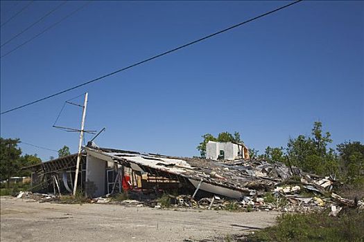
[[[249,149],[243,143],[209,141],[206,144],[206,158],[211,160],[248,160]]]

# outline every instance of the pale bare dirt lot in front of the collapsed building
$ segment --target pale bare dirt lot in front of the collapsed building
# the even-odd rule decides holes
[[[277,214],[68,205],[1,197],[1,242],[215,241],[216,236],[224,238],[272,225]]]

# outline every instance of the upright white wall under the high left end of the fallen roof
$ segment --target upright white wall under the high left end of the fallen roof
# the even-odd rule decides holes
[[[98,197],[105,194],[106,160],[87,155],[86,192],[87,196]]]

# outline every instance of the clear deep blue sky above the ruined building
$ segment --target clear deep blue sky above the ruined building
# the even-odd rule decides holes
[[[1,23],[28,1],[1,1]],[[1,27],[1,43],[60,2],[35,1]],[[1,111],[139,62],[287,1],[93,1],[1,58]],[[1,55],[84,2],[59,10]],[[204,133],[239,131],[263,151],[320,120],[333,145],[364,142],[364,3],[303,1],[153,62],[1,115],[1,137],[76,152],[78,133],[52,128],[65,100],[89,93],[86,128],[102,147],[197,156]],[[82,103],[81,98],[74,100]],[[80,126],[67,106],[58,124]],[[90,138],[89,135],[86,138]],[[43,160],[57,153],[21,145]]]

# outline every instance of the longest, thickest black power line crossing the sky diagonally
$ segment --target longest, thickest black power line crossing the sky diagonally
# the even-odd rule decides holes
[[[189,43],[187,43],[187,44],[184,44],[184,45],[182,45],[182,46],[178,46],[178,47],[176,47],[176,48],[173,48],[173,49],[171,49],[171,50],[168,50],[168,51],[166,51],[166,52],[164,52],[164,53],[161,53],[161,54],[159,54],[159,55],[155,55],[155,56],[150,57],[150,58],[148,58],[148,59],[144,59],[144,60],[143,60],[143,61],[141,61],[141,62],[137,62],[137,63],[132,64],[132,65],[130,65],[130,66],[126,66],[126,67],[121,68],[121,69],[119,69],[119,70],[116,70],[116,71],[114,71],[114,72],[112,72],[112,73],[105,74],[105,75],[103,75],[103,76],[101,76],[101,77],[97,77],[97,78],[95,78],[95,79],[93,79],[93,80],[89,80],[89,81],[84,82],[84,83],[82,83],[82,84],[78,84],[77,86],[73,86],[73,87],[71,87],[71,88],[69,88],[69,89],[65,89],[65,90],[60,91],[60,92],[58,92],[58,93],[54,93],[54,94],[52,94],[52,95],[49,95],[49,96],[46,96],[46,97],[42,97],[42,98],[40,98],[40,99],[38,99],[38,100],[35,100],[35,101],[33,101],[33,102],[28,102],[27,104],[24,104],[24,105],[21,105],[21,106],[17,106],[17,107],[15,107],[15,108],[13,108],[13,109],[9,109],[9,110],[7,110],[7,111],[3,111],[3,112],[2,112],[2,113],[0,113],[0,114],[9,113],[9,112],[11,112],[11,111],[15,111],[15,110],[17,110],[17,109],[24,108],[25,106],[29,106],[29,105],[35,104],[35,103],[37,103],[37,102],[42,102],[42,101],[47,100],[47,99],[49,99],[49,98],[51,98],[51,97],[55,97],[55,96],[60,95],[60,94],[62,94],[62,93],[67,93],[68,91],[71,91],[71,90],[73,90],[73,89],[78,89],[78,88],[79,88],[79,87],[81,87],[81,86],[85,86],[85,85],[90,84],[90,83],[92,83],[92,82],[96,82],[96,81],[102,80],[102,79],[104,79],[105,77],[110,77],[111,75],[115,75],[116,73],[120,73],[121,71],[125,71],[125,70],[128,70],[128,69],[132,68],[132,67],[139,66],[140,64],[144,64],[144,63],[146,63],[146,62],[150,62],[150,61],[151,61],[151,60],[153,60],[153,59],[157,59],[157,58],[162,57],[162,56],[164,56],[164,55],[167,55],[167,54],[169,54],[169,53],[173,53],[173,52],[175,52],[175,51],[177,51],[177,50],[180,50],[180,49],[182,49],[182,48],[186,48],[187,46],[191,46],[191,45],[196,44],[196,43],[198,43],[198,42],[200,42],[200,41],[203,41],[203,40],[205,40],[205,39],[209,39],[209,38],[211,38],[211,37],[214,37],[214,36],[216,36],[216,35],[220,35],[220,34],[221,34],[221,33],[223,33],[223,32],[227,32],[227,31],[229,31],[229,30],[232,30],[233,28],[237,28],[237,27],[239,27],[239,26],[242,26],[243,24],[248,24],[248,23],[249,23],[249,22],[251,22],[251,21],[254,21],[254,20],[260,19],[261,17],[265,17],[265,16],[267,16],[267,15],[270,15],[270,14],[272,14],[273,12],[277,12],[277,11],[282,10],[282,9],[284,9],[284,8],[288,8],[289,6],[292,6],[293,4],[299,3],[300,1],[302,1],[302,0],[294,1],[293,3],[288,3],[288,4],[287,4],[287,5],[285,5],[285,6],[281,6],[280,8],[276,8],[275,10],[271,10],[271,11],[269,11],[269,12],[263,13],[263,14],[261,14],[261,15],[257,16],[257,17],[252,18],[252,19],[248,19],[248,20],[243,21],[243,22],[241,22],[241,23],[239,23],[239,24],[235,24],[234,26],[230,26],[229,28],[225,28],[225,29],[220,30],[220,31],[218,31],[218,32],[214,32],[214,33],[213,33],[213,34],[211,34],[211,35],[207,35],[207,36],[202,37],[202,38],[200,38],[200,39],[196,39],[196,40],[194,40],[194,41],[191,41],[191,42],[189,42]]]

